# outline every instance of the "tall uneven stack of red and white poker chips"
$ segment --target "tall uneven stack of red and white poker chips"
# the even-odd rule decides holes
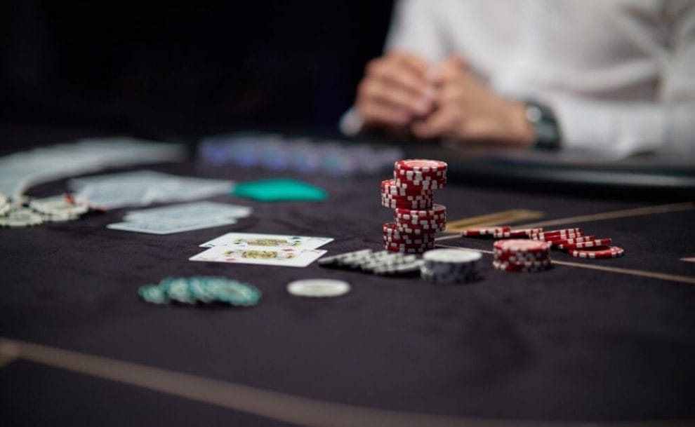
[[[395,163],[393,179],[381,182],[381,205],[394,217],[383,224],[384,249],[422,253],[435,247],[435,233],[446,229],[446,207],[434,203],[434,192],[446,185],[446,168],[427,159]]]

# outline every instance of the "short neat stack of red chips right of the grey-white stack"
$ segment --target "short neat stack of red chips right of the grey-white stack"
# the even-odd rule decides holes
[[[503,271],[543,271],[550,266],[550,243],[539,240],[497,240],[492,266]]]

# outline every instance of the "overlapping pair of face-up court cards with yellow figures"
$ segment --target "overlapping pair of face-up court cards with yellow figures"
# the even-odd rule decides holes
[[[328,237],[227,233],[201,244],[209,249],[190,260],[305,267],[324,255],[326,251],[317,248],[331,241]]]

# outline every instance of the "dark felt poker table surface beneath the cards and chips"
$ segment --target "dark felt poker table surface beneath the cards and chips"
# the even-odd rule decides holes
[[[146,168],[277,177],[194,161]],[[324,187],[329,200],[218,196],[209,200],[249,205],[253,215],[168,236],[107,229],[124,210],[0,230],[2,425],[695,425],[695,205],[687,194],[618,198],[451,179],[435,198],[449,221],[541,211],[527,222],[578,226],[626,251],[616,259],[554,251],[548,271],[510,273],[491,266],[493,240],[442,233],[442,247],[483,251],[481,278],[465,285],[317,263],[188,261],[228,231],[332,237],[322,247],[328,255],[380,249],[381,224],[392,217],[378,199],[386,177],[284,176]],[[58,180],[30,194],[65,188]],[[138,298],[138,287],[169,276],[227,276],[263,298],[249,308]],[[294,297],[286,285],[302,278],[346,280],[352,290]]]

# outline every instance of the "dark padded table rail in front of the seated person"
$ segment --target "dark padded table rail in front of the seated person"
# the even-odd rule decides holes
[[[393,144],[384,140],[380,144]],[[695,158],[611,158],[581,151],[529,151],[501,147],[399,144],[409,158],[442,158],[454,182],[590,194],[617,198],[692,198]]]

